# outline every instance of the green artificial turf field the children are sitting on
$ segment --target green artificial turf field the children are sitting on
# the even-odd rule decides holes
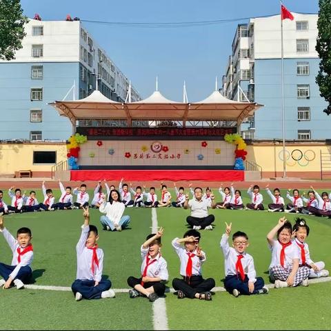
[[[218,193],[218,192],[217,192]],[[139,277],[140,246],[151,232],[150,208],[127,208],[131,223],[128,230],[101,230],[99,210],[90,210],[91,223],[99,228],[99,245],[105,253],[103,274],[110,278],[113,288],[128,288],[129,276]],[[266,234],[276,225],[283,213],[245,210],[210,210],[215,215],[214,230],[201,231],[201,247],[207,254],[203,277],[213,277],[223,286],[224,260],[219,248],[224,222],[232,222],[232,231],[247,232],[248,252],[254,257],[258,276],[268,281],[271,254]],[[188,230],[185,218],[189,210],[158,208],[159,226],[165,228],[162,254],[168,262],[170,281],[179,277],[179,259],[171,241]],[[296,214],[285,215],[293,223]],[[325,261],[330,269],[328,254],[330,219],[306,217],[310,226],[308,243],[313,261]],[[75,245],[83,223],[81,210],[31,212],[5,217],[6,227],[13,234],[17,228],[32,229],[34,261],[32,268],[36,285],[70,286],[76,276]],[[0,261],[10,263],[12,254],[0,236]],[[216,292],[211,302],[197,299],[179,300],[172,293],[165,298],[170,330],[216,329],[330,329],[331,283],[312,284],[308,288],[271,289],[269,294],[234,298],[226,292]],[[71,292],[46,290],[1,290],[0,325],[3,329],[19,330],[150,330],[152,303],[146,298],[130,299],[128,294],[117,294],[115,299],[74,301]],[[21,316],[17,318],[17,309]],[[297,318],[301,317],[302,322]]]

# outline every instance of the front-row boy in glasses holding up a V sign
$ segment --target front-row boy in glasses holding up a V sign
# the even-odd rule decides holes
[[[230,247],[228,239],[231,233],[231,226],[225,222],[225,234],[221,239],[221,249],[224,254],[225,281],[224,287],[234,297],[239,294],[266,294],[268,288],[264,286],[263,278],[257,277],[252,256],[245,252],[248,248],[248,236],[245,232],[237,231],[232,235]]]

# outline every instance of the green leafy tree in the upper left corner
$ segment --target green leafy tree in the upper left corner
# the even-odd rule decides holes
[[[26,36],[24,24],[28,17],[23,15],[19,0],[0,0],[0,59],[12,60],[15,51],[22,48]]]

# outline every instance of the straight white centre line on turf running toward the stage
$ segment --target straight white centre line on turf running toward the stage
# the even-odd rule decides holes
[[[152,208],[152,233],[157,233],[157,230],[159,230],[157,226],[157,210]],[[159,298],[153,303],[153,326],[154,330],[169,330],[167,306],[164,298]]]

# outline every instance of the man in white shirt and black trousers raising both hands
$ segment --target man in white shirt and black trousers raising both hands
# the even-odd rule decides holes
[[[210,194],[210,199],[202,199],[202,188],[194,189],[194,197],[190,201],[186,194],[183,208],[191,209],[191,214],[186,221],[194,230],[212,230],[212,222],[215,217],[212,214],[208,215],[208,208],[216,208],[214,199],[214,194]]]

